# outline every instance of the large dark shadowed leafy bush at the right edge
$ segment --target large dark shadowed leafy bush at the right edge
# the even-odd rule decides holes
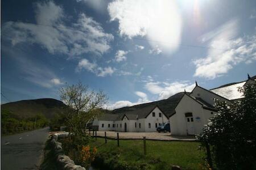
[[[245,98],[216,101],[218,114],[198,139],[208,142],[218,169],[256,169],[256,83],[240,88]]]

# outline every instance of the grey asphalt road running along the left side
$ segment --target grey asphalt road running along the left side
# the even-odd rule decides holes
[[[1,137],[1,169],[38,169],[49,128]]]

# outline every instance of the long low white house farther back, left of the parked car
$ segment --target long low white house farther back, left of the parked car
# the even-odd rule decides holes
[[[98,130],[114,131],[156,131],[160,124],[168,122],[168,116],[157,105],[129,109],[121,113],[105,113],[94,118],[92,125]]]

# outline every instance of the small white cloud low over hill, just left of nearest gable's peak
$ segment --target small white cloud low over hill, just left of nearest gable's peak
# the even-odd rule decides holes
[[[195,84],[189,82],[147,82],[144,87],[152,94],[158,94],[158,99],[162,100],[184,90],[189,92],[195,87]]]

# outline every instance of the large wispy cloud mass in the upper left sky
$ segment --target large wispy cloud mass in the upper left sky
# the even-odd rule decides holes
[[[71,27],[65,24],[63,8],[53,1],[38,2],[35,8],[36,24],[23,22],[6,22],[3,24],[3,35],[13,45],[30,42],[39,44],[49,53],[79,56],[84,53],[101,55],[110,48],[113,36],[105,33],[93,18],[80,14]]]

